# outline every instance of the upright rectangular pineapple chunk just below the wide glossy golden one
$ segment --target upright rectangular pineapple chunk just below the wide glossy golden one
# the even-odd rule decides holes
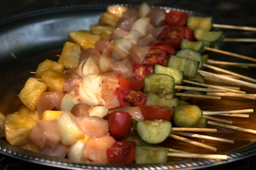
[[[76,68],[80,63],[81,48],[78,44],[65,42],[58,63],[64,65],[67,70]]]

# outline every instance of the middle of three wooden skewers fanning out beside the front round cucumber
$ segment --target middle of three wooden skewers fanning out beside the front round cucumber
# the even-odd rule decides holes
[[[219,138],[219,137],[212,137],[212,136],[208,136],[208,135],[199,135],[199,134],[188,133],[188,132],[172,132],[172,133],[175,134],[175,135],[182,135],[182,136],[187,136],[187,137],[196,137],[196,138],[200,138],[200,139],[209,139],[209,140],[214,140],[214,141],[222,141],[222,142],[227,142],[227,143],[231,143],[231,144],[235,143],[234,140],[223,139],[223,138]]]

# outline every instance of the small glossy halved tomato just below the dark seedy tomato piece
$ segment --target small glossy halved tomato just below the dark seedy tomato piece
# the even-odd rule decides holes
[[[132,73],[135,78],[143,80],[147,75],[153,73],[154,65],[134,64]]]

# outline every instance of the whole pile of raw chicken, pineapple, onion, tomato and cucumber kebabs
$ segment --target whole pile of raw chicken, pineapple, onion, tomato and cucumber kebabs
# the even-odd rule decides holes
[[[178,21],[179,15],[186,18]],[[151,9],[146,3],[137,9],[113,5],[101,15],[99,25],[70,31],[58,61],[46,59],[27,79],[18,94],[24,105],[15,113],[2,114],[7,141],[45,155],[96,163],[166,162],[173,157],[168,142],[183,152],[220,159],[217,154],[223,151],[223,141],[235,143],[233,137],[222,141],[220,137],[226,138],[235,129],[254,134],[255,126],[237,128],[223,124],[230,124],[229,119],[206,118],[206,113],[216,113],[203,110],[207,109],[204,104],[218,105],[220,96],[234,97],[228,98],[234,103],[236,97],[253,101],[255,94],[240,90],[227,93],[231,88],[217,85],[205,87],[207,75],[217,76],[202,70],[207,67],[204,47],[221,48],[223,34],[189,27],[187,18],[189,22],[204,19],[193,20],[180,11]],[[255,88],[243,80],[222,79]],[[247,106],[242,108],[253,107]],[[239,113],[247,111],[242,108]],[[228,130],[216,134],[216,126]],[[211,136],[204,134],[207,140],[216,137],[219,141],[206,145],[177,137],[186,130],[209,132]],[[192,144],[196,148],[188,150]]]

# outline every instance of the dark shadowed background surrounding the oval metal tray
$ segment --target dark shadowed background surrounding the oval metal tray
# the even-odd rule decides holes
[[[0,20],[28,11],[79,4],[141,4],[168,6],[222,17],[236,25],[256,27],[255,0],[0,0]],[[202,170],[255,170],[256,156]],[[0,154],[0,170],[57,170]]]

